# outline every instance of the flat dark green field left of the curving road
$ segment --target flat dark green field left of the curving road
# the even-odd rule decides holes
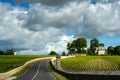
[[[9,71],[13,68],[19,67],[23,65],[26,61],[35,59],[35,58],[42,58],[42,57],[48,57],[48,56],[0,56],[0,73]]]

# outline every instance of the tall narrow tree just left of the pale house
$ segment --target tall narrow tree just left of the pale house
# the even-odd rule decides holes
[[[99,40],[96,38],[93,38],[90,41],[90,50],[93,54],[95,54],[96,49],[99,47]]]

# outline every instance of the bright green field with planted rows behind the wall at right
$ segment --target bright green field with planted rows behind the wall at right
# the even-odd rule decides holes
[[[61,64],[68,71],[120,70],[120,56],[80,56],[62,59]]]

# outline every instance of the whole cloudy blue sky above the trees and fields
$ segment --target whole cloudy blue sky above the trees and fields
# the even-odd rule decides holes
[[[62,53],[79,37],[120,45],[120,0],[0,0],[1,50]]]

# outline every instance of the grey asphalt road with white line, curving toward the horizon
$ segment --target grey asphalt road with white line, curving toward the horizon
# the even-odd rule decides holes
[[[41,60],[34,63],[30,69],[14,80],[57,80],[48,69],[50,60]]]

